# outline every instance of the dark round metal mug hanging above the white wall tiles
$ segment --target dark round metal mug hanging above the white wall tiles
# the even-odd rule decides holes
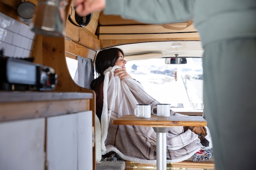
[[[25,24],[31,24],[35,8],[36,5],[32,2],[22,2],[17,8],[20,20]]]

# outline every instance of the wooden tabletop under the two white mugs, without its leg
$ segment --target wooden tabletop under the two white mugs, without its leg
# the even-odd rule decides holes
[[[201,116],[170,116],[157,117],[151,115],[150,118],[137,118],[135,115],[124,115],[112,121],[114,125],[138,125],[152,127],[170,126],[206,126],[207,121]]]

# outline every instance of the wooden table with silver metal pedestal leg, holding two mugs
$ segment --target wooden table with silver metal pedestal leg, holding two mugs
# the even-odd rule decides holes
[[[206,126],[207,121],[201,116],[170,116],[137,118],[124,115],[112,121],[114,125],[151,126],[157,133],[157,170],[166,170],[166,133],[172,126]]]

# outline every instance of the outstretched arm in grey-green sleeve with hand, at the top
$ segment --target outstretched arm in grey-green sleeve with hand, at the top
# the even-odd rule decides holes
[[[106,15],[148,24],[184,22],[193,19],[195,0],[74,0],[79,15],[104,9]]]

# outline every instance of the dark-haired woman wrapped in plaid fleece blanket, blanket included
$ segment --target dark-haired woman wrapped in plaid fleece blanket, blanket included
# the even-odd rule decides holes
[[[153,128],[112,124],[117,117],[134,115],[136,104],[156,106],[159,103],[132,79],[125,65],[124,53],[118,48],[100,51],[95,60],[99,77],[92,82],[91,88],[96,92],[96,114],[101,122],[102,155],[115,152],[124,160],[152,164],[156,159],[156,133]],[[171,113],[175,115],[175,112]],[[184,132],[182,126],[170,128],[166,137],[168,163],[184,161],[204,148],[198,135],[191,130]]]

